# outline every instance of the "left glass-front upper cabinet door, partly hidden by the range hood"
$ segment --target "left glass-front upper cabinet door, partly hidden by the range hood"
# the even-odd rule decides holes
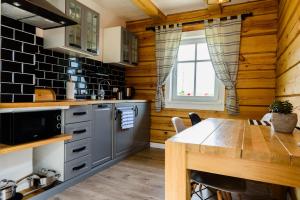
[[[82,6],[77,1],[66,0],[66,13],[78,24],[66,27],[66,45],[82,48]]]

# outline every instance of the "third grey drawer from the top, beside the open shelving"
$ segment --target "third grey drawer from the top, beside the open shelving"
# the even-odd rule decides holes
[[[88,155],[90,151],[91,140],[89,138],[65,144],[65,161],[71,161]]]

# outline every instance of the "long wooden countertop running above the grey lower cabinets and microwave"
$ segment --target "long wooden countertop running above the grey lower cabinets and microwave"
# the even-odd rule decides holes
[[[30,107],[57,107],[57,106],[79,106],[101,103],[144,103],[147,100],[62,100],[49,102],[24,102],[24,103],[0,103],[0,109],[5,108],[30,108]]]

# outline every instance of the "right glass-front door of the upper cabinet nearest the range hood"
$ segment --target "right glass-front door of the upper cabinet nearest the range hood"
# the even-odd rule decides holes
[[[86,9],[85,12],[86,51],[97,54],[99,43],[99,14]]]

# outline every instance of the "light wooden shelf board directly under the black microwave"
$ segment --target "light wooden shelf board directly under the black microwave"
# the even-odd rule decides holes
[[[61,142],[61,141],[70,140],[70,139],[72,139],[72,135],[62,134],[62,135],[58,135],[58,136],[44,139],[44,140],[34,141],[34,142],[30,142],[30,143],[25,143],[25,144],[18,144],[18,145],[13,145],[13,146],[6,145],[6,144],[0,144],[0,155],[12,153],[12,152],[16,152],[16,151],[21,151],[21,150],[25,150],[25,149],[40,147],[43,145],[48,145],[48,144],[52,144],[55,142]]]

